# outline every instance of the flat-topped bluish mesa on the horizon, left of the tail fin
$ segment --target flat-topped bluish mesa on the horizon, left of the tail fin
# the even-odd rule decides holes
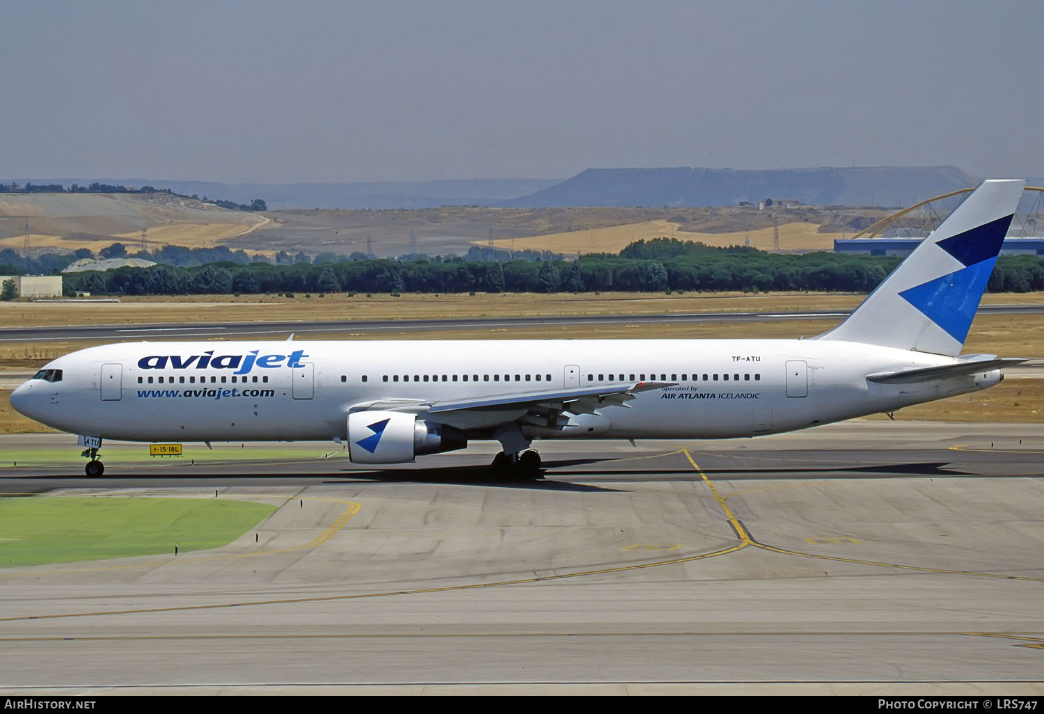
[[[735,206],[790,198],[817,206],[916,204],[978,180],[953,166],[813,169],[588,169],[554,186],[499,204],[511,208],[568,206]]]

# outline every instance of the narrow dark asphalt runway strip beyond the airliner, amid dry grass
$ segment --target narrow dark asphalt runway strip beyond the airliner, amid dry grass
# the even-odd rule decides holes
[[[1044,312],[1044,305],[982,305],[979,313],[1028,314]],[[743,323],[809,317],[846,317],[851,310],[788,312],[702,312],[651,315],[560,315],[547,317],[471,317],[401,320],[332,320],[275,323],[162,323],[140,325],[84,325],[0,329],[0,342],[75,339],[146,340],[210,339],[214,337],[279,336],[289,333],[411,332],[418,330],[512,329],[533,326],[649,325],[657,323]]]

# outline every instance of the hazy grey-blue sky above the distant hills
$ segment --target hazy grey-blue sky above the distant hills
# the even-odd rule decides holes
[[[0,178],[1044,175],[1044,2],[0,0]]]

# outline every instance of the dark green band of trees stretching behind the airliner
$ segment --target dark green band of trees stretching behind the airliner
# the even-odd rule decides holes
[[[68,294],[255,294],[283,292],[600,292],[845,291],[869,292],[899,258],[830,253],[769,254],[707,248],[657,258],[583,256],[574,261],[478,262],[464,258],[356,259],[338,262],[220,261],[66,273]],[[988,289],[1044,289],[1044,262],[1001,257]]]

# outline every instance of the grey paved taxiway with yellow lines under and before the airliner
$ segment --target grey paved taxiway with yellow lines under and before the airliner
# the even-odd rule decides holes
[[[1042,425],[539,446],[539,481],[482,444],[4,463],[7,495],[279,509],[212,551],[0,569],[0,692],[1044,693]]]

